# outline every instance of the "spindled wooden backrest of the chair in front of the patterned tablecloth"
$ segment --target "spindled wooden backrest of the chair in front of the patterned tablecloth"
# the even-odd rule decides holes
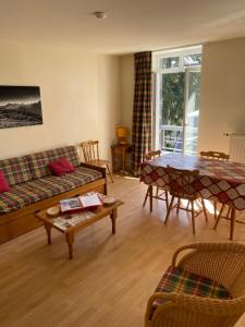
[[[169,175],[170,194],[185,199],[198,198],[196,182],[199,177],[199,170],[176,169],[167,167]]]

